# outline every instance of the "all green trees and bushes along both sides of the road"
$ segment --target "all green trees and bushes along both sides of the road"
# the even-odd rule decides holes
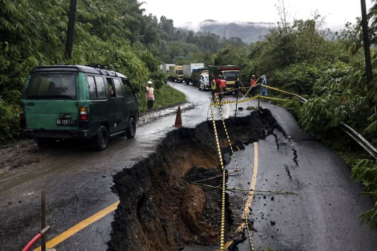
[[[277,6],[277,27],[264,40],[250,45],[238,38],[224,41],[215,34],[176,29],[171,19],[143,15],[137,0],[78,1],[70,61],[64,56],[69,1],[0,3],[0,144],[19,139],[18,102],[28,73],[37,65],[114,66],[141,90],[141,110],[145,109],[143,88],[149,79],[156,88],[155,108],[184,99],[164,84],[160,63],[240,65],[243,81],[248,82],[252,74],[264,74],[268,85],[308,98],[302,105],[285,105],[305,131],[351,165],[353,177],[365,186],[364,193],[376,201],[362,215],[362,222],[377,227],[377,162],[365,155],[351,155],[357,146],[336,130],[343,121],[377,146],[377,4],[368,13],[374,78],[367,86],[360,21],[330,34],[318,14],[287,22],[283,1]],[[275,92],[269,90],[269,94]]]

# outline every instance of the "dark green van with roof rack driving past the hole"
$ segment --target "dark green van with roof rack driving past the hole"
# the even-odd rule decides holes
[[[21,135],[39,144],[49,139],[86,139],[102,151],[110,137],[135,136],[137,91],[124,75],[106,66],[36,67],[22,92]]]

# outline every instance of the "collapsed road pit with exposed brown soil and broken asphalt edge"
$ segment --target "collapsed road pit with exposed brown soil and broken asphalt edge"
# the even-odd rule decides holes
[[[267,109],[225,123],[234,149],[265,139],[275,129],[281,131]],[[216,126],[224,156],[230,147],[222,121],[216,121]],[[221,184],[221,173],[211,121],[195,129],[169,132],[154,154],[114,175],[112,190],[120,204],[109,250],[177,250],[218,244],[221,190],[191,182],[207,179],[206,184],[216,187]],[[232,215],[229,202],[226,207],[225,230],[234,233],[241,215]]]

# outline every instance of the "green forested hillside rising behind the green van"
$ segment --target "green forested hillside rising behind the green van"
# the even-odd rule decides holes
[[[173,21],[143,15],[137,0],[77,1],[72,60],[64,55],[69,1],[0,0],[0,144],[18,139],[19,99],[38,65],[99,63],[137,86],[159,87],[161,63],[212,63],[220,37],[175,29]],[[145,105],[144,93],[139,93]]]

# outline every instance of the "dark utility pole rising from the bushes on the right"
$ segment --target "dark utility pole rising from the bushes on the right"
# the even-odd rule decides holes
[[[361,24],[362,24],[362,38],[364,42],[364,55],[365,55],[365,72],[367,88],[372,88],[370,82],[372,81],[372,66],[370,63],[370,45],[368,36],[368,20],[366,19],[365,0],[361,0]]]

